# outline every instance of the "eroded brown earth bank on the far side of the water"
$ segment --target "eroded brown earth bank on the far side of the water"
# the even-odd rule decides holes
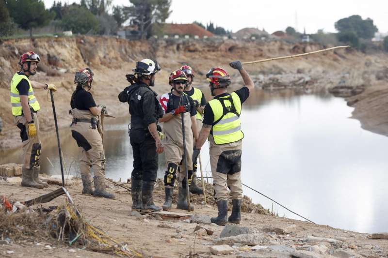
[[[241,85],[238,72],[228,67],[233,60],[253,61],[270,57],[303,53],[323,48],[318,44],[291,45],[281,41],[235,41],[208,39],[128,41],[112,37],[72,37],[13,39],[0,42],[0,116],[4,128],[0,135],[0,150],[21,144],[19,132],[13,125],[9,104],[9,83],[18,71],[17,62],[21,53],[33,50],[42,61],[40,71],[32,79],[54,83],[60,127],[68,126],[69,100],[74,90],[73,75],[81,67],[89,66],[95,72],[92,93],[98,104],[108,106],[115,116],[127,116],[128,106],[117,101],[117,94],[128,85],[125,75],[131,72],[135,61],[154,58],[162,66],[156,79],[155,91],[169,91],[168,76],[182,64],[190,64],[196,73],[194,86],[207,87],[205,74],[211,67],[227,68],[232,76],[232,85]],[[384,85],[386,78],[377,75],[388,66],[387,54],[365,55],[353,49],[325,52],[304,58],[272,61],[249,65],[245,68],[252,75],[257,87],[282,89],[301,87],[321,90],[337,85]],[[41,104],[40,124],[43,134],[52,133],[54,122],[47,92],[37,90]]]

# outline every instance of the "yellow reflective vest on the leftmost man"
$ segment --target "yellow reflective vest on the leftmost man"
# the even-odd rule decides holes
[[[19,82],[22,79],[26,79],[28,81],[28,85],[29,85],[29,89],[28,89],[28,104],[32,107],[32,109],[34,111],[38,111],[40,109],[39,102],[38,102],[38,100],[35,98],[35,96],[33,94],[32,85],[31,85],[31,82],[28,79],[28,77],[25,76],[25,75],[19,75],[19,74],[16,73],[12,77],[12,81],[11,81],[11,94],[10,94],[10,96],[11,96],[11,106],[12,106],[12,115],[14,115],[14,116],[20,116],[22,114],[22,106],[21,106],[21,103],[20,103],[20,95],[19,95],[19,91],[16,89],[17,84],[19,84]]]

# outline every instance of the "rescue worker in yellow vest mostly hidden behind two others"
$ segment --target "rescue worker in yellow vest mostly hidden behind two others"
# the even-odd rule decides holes
[[[206,105],[205,94],[198,88],[195,88],[192,86],[192,83],[194,81],[193,68],[185,64],[182,67],[180,67],[180,70],[183,71],[187,76],[187,85],[184,92],[190,97],[192,97],[194,101],[194,106],[197,112],[195,115],[195,121],[199,132],[202,128],[203,109],[205,108],[205,105]],[[197,178],[197,160],[193,160],[193,180],[191,181],[190,192],[193,194],[201,195],[203,194],[203,190],[198,186],[198,182],[196,178]]]

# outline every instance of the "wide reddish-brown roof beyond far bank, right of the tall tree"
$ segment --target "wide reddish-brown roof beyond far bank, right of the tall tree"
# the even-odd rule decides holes
[[[195,23],[189,24],[176,24],[176,23],[166,23],[163,26],[164,35],[168,35],[171,37],[176,37],[178,35],[179,38],[183,38],[185,36],[189,36],[190,38],[207,38],[213,37],[214,34],[208,30],[205,30],[201,26]],[[187,38],[187,37],[186,37]]]

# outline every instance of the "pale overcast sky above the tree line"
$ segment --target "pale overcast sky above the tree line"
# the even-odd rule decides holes
[[[44,0],[46,8],[54,0]],[[79,0],[63,0],[72,3]],[[114,5],[129,5],[129,0],[113,0]],[[334,23],[350,15],[371,18],[379,32],[388,32],[388,0],[172,0],[172,14],[167,22],[215,25],[236,32],[254,27],[268,32],[285,30],[291,26],[303,32],[318,29],[336,32]]]

